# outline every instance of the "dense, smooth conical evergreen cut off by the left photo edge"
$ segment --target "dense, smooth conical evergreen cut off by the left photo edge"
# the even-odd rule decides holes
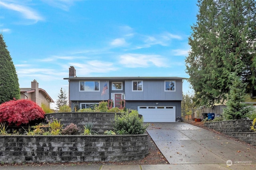
[[[20,99],[18,76],[3,35],[0,34],[0,104],[14,98]]]

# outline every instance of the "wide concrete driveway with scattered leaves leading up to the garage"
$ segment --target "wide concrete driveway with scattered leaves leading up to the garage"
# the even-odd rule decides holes
[[[254,147],[200,127],[150,123],[147,131],[168,162],[184,169],[256,169]]]

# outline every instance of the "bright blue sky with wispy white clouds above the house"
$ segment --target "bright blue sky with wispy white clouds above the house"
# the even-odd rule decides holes
[[[0,0],[0,30],[20,88],[56,101],[80,77],[186,74],[197,0]],[[192,92],[184,81],[183,92]]]

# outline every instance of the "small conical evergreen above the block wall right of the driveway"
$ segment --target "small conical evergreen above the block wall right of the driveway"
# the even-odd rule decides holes
[[[223,116],[225,120],[245,119],[254,109],[252,105],[244,103],[247,83],[243,83],[236,73],[232,73],[232,77],[234,80],[231,80],[232,85]]]

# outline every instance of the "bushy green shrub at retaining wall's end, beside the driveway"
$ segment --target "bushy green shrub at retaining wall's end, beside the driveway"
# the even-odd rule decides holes
[[[138,111],[121,113],[114,117],[114,131],[119,135],[144,134],[148,125],[144,125],[143,117],[140,118]]]

